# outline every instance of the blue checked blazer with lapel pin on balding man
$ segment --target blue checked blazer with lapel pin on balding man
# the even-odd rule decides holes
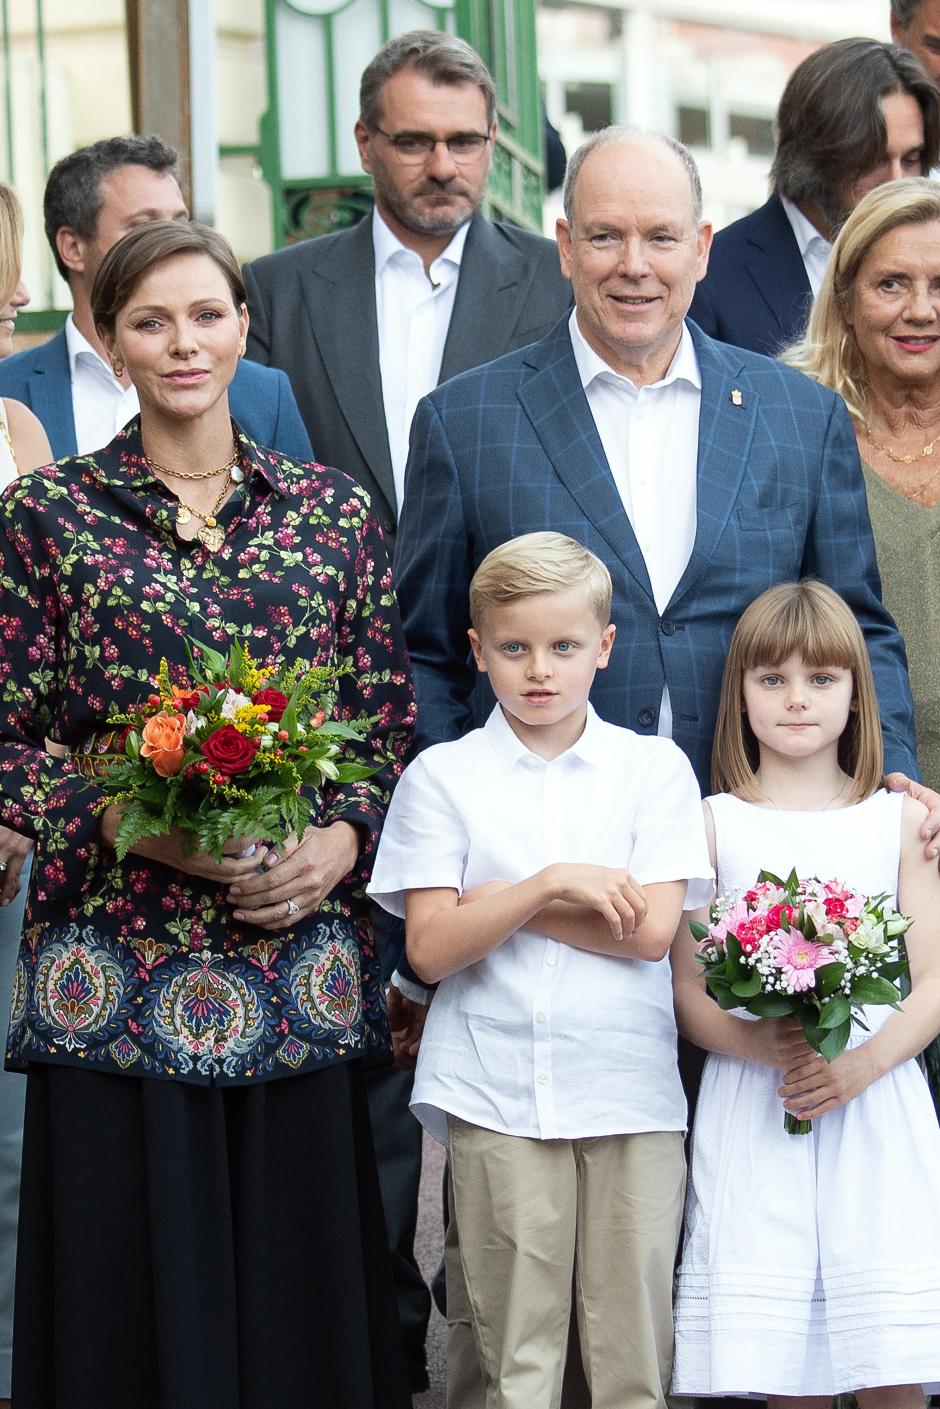
[[[586,544],[613,578],[617,640],[595,679],[598,713],[653,734],[668,682],[674,738],[703,789],[734,624],[765,588],[809,573],[846,597],[865,633],[886,768],[917,776],[905,652],[881,603],[844,403],[791,368],[689,327],[702,371],[698,530],[662,616],[588,409],[567,317],[538,342],[419,403],[395,562],[420,744],[455,738],[479,719],[466,644],[474,569],[507,538],[554,528]]]

